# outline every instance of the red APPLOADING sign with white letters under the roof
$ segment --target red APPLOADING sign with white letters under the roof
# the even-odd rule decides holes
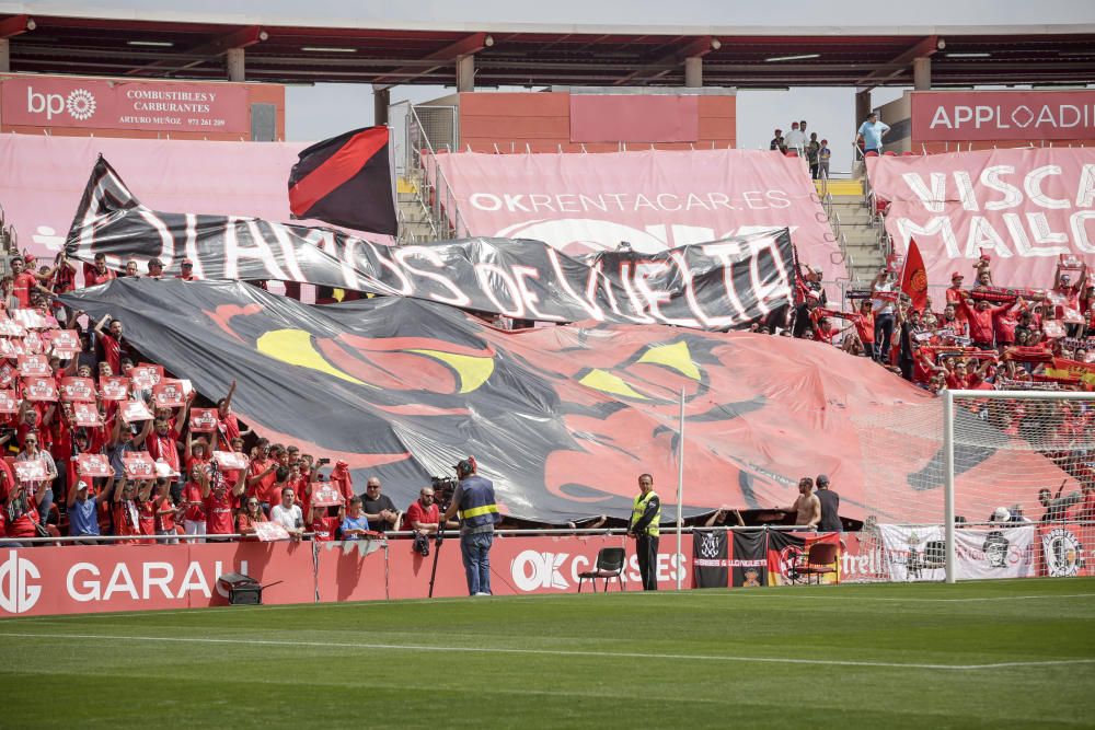
[[[918,142],[1095,138],[1095,91],[915,91]]]

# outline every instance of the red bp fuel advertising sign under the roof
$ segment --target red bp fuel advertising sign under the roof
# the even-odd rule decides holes
[[[5,125],[245,132],[247,90],[216,83],[20,77],[0,81]]]

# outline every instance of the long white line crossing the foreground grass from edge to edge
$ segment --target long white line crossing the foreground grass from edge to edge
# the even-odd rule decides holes
[[[591,657],[596,659],[668,659],[684,661],[757,662],[768,664],[811,664],[825,667],[876,667],[886,669],[940,669],[984,670],[1004,667],[1053,667],[1064,664],[1092,664],[1095,659],[1050,659],[1040,661],[1011,661],[991,664],[921,664],[914,662],[851,661],[840,659],[794,659],[787,657],[736,657],[726,654],[676,654],[631,651],[581,651],[569,649],[507,649],[502,647],[438,647],[411,644],[355,644],[345,641],[289,641],[285,639],[226,639],[180,636],[129,636],[111,634],[33,634],[0,631],[0,636],[37,639],[92,639],[104,641],[161,641],[171,644],[242,644],[273,647],[315,647],[324,649],[371,649],[396,651],[441,651],[464,653],[532,654],[541,657]]]

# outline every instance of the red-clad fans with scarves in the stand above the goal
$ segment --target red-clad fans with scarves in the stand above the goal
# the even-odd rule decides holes
[[[932,393],[1095,390],[1095,286],[1087,282],[1084,265],[1073,269],[1062,263],[1045,291],[993,286],[988,255],[975,270],[971,287],[955,271],[945,299],[927,298],[918,309],[900,291],[897,268],[887,266],[868,289],[848,292],[845,311],[828,302],[820,271],[804,268],[791,321],[754,328],[872,358]]]

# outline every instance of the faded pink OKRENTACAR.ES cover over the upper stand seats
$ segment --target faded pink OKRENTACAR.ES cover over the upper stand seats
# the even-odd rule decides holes
[[[458,152],[438,163],[471,235],[535,239],[572,255],[624,241],[655,253],[787,227],[804,263],[844,276],[797,158],[759,150]]]

